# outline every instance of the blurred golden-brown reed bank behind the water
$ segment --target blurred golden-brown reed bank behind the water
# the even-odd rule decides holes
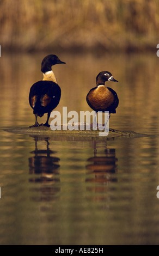
[[[151,51],[159,42],[158,0],[1,0],[0,8],[7,51]]]

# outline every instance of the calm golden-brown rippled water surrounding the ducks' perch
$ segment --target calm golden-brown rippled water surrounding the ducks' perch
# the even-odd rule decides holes
[[[28,94],[45,53],[2,54],[0,244],[158,245],[159,58],[57,55],[66,62],[53,68],[62,88],[57,111],[90,111],[85,96],[108,70],[119,81],[109,82],[119,97],[109,126],[152,136],[95,141],[5,131],[34,123]]]

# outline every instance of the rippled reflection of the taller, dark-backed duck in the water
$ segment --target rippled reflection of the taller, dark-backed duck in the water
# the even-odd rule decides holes
[[[59,174],[60,159],[55,156],[55,151],[49,148],[49,138],[35,136],[35,150],[30,152],[34,156],[29,157],[29,174],[34,175],[29,182],[38,183],[40,187],[34,187],[32,191],[38,195],[32,200],[50,201],[56,199],[56,194],[60,191],[60,179],[56,178]],[[46,142],[46,149],[38,149],[38,141]]]

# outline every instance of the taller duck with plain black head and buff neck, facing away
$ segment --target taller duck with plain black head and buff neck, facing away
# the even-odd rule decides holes
[[[35,82],[30,88],[29,104],[33,108],[35,115],[35,124],[29,127],[47,126],[50,114],[59,104],[61,97],[61,89],[57,83],[57,79],[52,71],[52,66],[56,64],[66,64],[62,62],[55,54],[49,54],[41,62],[41,72],[43,80]],[[45,124],[38,123],[38,117],[42,117],[47,113]]]

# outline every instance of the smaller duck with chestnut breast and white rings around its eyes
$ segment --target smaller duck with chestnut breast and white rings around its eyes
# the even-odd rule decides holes
[[[119,104],[117,93],[112,88],[105,86],[107,81],[118,82],[113,78],[111,72],[101,71],[96,77],[96,87],[90,89],[86,97],[89,107],[96,112],[95,119],[98,111],[109,111],[110,118],[111,113],[116,113]]]

